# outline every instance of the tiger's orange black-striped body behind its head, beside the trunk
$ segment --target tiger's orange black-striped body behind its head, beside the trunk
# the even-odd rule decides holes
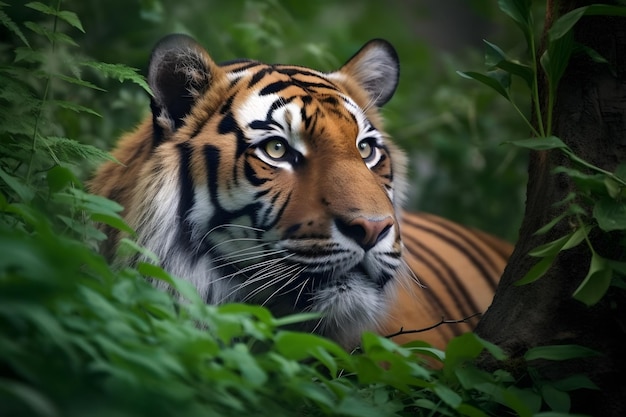
[[[419,282],[399,287],[382,334],[398,343],[425,340],[439,348],[471,331],[489,304],[513,247],[494,236],[427,213],[402,214],[403,257]]]

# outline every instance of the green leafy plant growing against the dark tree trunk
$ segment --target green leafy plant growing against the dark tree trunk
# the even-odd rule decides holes
[[[509,58],[498,46],[486,42],[485,63],[487,74],[460,72],[464,77],[474,79],[490,87],[504,97],[522,117],[534,138],[514,140],[508,143],[535,151],[558,150],[571,162],[570,167],[559,166],[554,174],[566,174],[577,185],[577,191],[568,195],[558,206],[567,209],[550,223],[537,230],[545,234],[561,221],[574,225],[572,231],[557,240],[543,244],[529,255],[541,258],[528,273],[518,281],[518,285],[531,283],[543,276],[561,251],[586,243],[591,252],[587,275],[574,297],[587,305],[597,303],[611,284],[624,287],[626,262],[607,259],[593,247],[591,233],[619,233],[622,247],[626,240],[626,165],[617,167],[615,172],[607,172],[588,163],[568,147],[561,139],[552,135],[553,111],[559,82],[572,54],[584,53],[600,63],[607,63],[597,52],[574,42],[573,27],[583,16],[607,15],[626,16],[623,6],[592,5],[573,10],[556,19],[547,33],[545,51],[537,58],[537,42],[530,0],[500,0],[500,9],[516,23],[522,31],[528,51],[529,64]],[[539,68],[538,65],[541,67]],[[542,106],[539,97],[539,74],[543,71],[547,79],[547,102]],[[532,123],[513,100],[510,88],[513,79],[523,81],[533,97]]]

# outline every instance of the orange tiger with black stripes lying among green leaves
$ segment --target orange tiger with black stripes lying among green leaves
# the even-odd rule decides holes
[[[137,242],[207,303],[311,312],[297,330],[346,349],[365,331],[481,312],[508,244],[403,210],[406,157],[380,112],[399,74],[382,39],[321,72],[218,64],[190,36],[166,36],[148,65],[151,114],[90,190],[120,203]],[[104,229],[117,259],[124,235]],[[418,336],[441,346],[459,331]]]

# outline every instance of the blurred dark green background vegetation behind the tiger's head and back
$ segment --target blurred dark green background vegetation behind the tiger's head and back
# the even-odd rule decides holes
[[[40,19],[9,1],[15,21]],[[56,2],[55,2],[56,3]],[[85,33],[65,28],[78,46],[66,54],[123,63],[145,72],[152,46],[172,32],[188,33],[216,61],[247,57],[333,70],[366,41],[385,38],[398,50],[401,79],[385,106],[387,131],[410,160],[408,208],[436,213],[515,241],[524,206],[526,154],[502,142],[523,139],[527,128],[507,103],[456,74],[483,70],[482,39],[521,55],[523,40],[489,0],[67,0]],[[0,34],[1,35],[1,34]],[[60,66],[60,65],[59,65]],[[81,77],[97,77],[81,74]],[[107,91],[51,89],[102,117],[67,117],[68,137],[110,149],[147,114],[137,85],[95,79]],[[524,92],[521,108],[528,107]],[[64,118],[64,111],[56,115]],[[85,167],[87,177],[93,167]]]

